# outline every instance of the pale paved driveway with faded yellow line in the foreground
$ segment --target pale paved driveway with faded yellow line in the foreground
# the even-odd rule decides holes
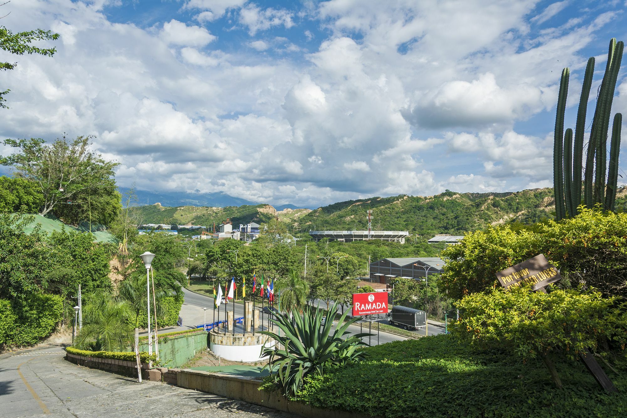
[[[240,400],[80,367],[60,347],[0,356],[0,416],[276,417],[295,415]]]

